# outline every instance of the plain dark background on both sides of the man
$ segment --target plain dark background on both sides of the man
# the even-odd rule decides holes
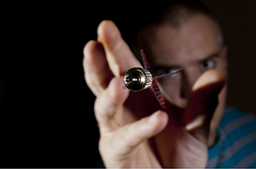
[[[255,1],[202,2],[229,46],[228,104],[255,114]],[[99,132],[95,97],[84,82],[83,48],[106,19],[131,42],[137,4],[0,3],[0,167],[96,166]]]

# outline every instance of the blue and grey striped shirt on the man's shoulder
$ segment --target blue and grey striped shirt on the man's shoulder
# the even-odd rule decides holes
[[[207,167],[256,167],[256,118],[227,107],[216,144],[208,149]]]

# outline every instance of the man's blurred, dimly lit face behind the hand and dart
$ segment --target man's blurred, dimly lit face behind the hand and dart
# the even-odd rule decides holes
[[[143,49],[154,76],[182,69],[159,80],[166,99],[180,108],[188,104],[192,87],[206,70],[226,75],[226,48],[221,45],[217,26],[203,14],[185,20],[179,27],[154,25]],[[226,90],[220,94],[224,102]]]

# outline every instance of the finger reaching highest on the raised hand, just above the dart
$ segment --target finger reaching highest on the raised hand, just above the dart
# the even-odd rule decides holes
[[[103,20],[98,26],[97,34],[97,41],[101,42],[105,49],[108,65],[114,76],[123,76],[131,67],[142,67],[113,21]]]

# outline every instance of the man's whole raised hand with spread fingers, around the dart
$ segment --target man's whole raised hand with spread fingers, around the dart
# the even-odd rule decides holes
[[[167,103],[165,112],[149,88],[139,93],[124,88],[125,71],[142,66],[113,22],[102,21],[97,34],[97,42],[84,48],[84,73],[96,95],[105,166],[205,167],[209,121],[224,76],[210,70],[195,82],[188,110]]]

